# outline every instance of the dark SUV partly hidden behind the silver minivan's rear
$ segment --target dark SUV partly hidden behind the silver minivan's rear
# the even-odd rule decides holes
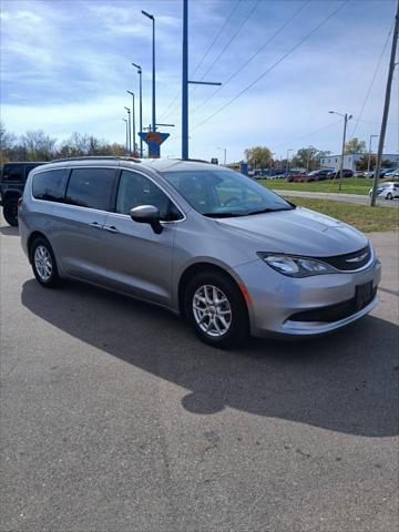
[[[18,200],[22,196],[28,174],[31,170],[45,163],[4,163],[0,176],[0,205],[10,225],[18,225]]]

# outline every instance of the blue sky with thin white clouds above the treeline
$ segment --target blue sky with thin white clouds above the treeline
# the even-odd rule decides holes
[[[206,74],[204,79],[208,81],[225,83],[243,66],[214,95],[212,86],[191,90],[192,157],[222,158],[221,149],[226,147],[227,160],[237,161],[244,149],[254,144],[269,146],[276,157],[286,156],[288,149],[295,151],[310,144],[339,152],[342,124],[339,116],[328,114],[329,110],[354,115],[349,137],[355,132],[368,142],[370,134],[379,133],[390,40],[365,105],[364,102],[393,23],[395,0],[188,3],[193,76],[202,79]],[[339,7],[334,17],[300,43]],[[42,129],[64,139],[79,131],[124,142],[123,108],[131,105],[125,91],[139,93],[132,61],[143,68],[144,124],[149,124],[152,31],[151,21],[141,14],[141,9],[156,18],[157,121],[176,124],[167,130],[171,137],[162,154],[180,156],[181,98],[175,96],[181,90],[181,0],[2,0],[1,120],[6,126],[18,134]],[[385,151],[399,151],[399,71],[393,80]]]

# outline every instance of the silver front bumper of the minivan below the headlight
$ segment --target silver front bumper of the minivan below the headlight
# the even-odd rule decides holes
[[[374,252],[372,252],[374,253]],[[317,336],[345,327],[370,313],[378,304],[377,287],[381,265],[372,256],[370,264],[358,272],[339,272],[305,278],[284,276],[263,260],[235,269],[249,296],[248,311],[253,336]],[[361,309],[337,319],[326,319],[326,308],[344,305],[356,296],[356,287],[372,284],[372,298]],[[320,320],[300,321],[295,315],[309,313]],[[299,316],[300,316],[299,314]]]

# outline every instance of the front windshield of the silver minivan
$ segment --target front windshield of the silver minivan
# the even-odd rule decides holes
[[[283,197],[232,170],[166,171],[162,175],[204,216],[248,216],[295,208]]]

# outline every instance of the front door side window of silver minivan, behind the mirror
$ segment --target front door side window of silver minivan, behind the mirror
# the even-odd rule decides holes
[[[151,180],[134,172],[123,171],[116,196],[116,213],[129,214],[131,208],[140,205],[154,205],[164,221],[182,217],[166,194]]]

